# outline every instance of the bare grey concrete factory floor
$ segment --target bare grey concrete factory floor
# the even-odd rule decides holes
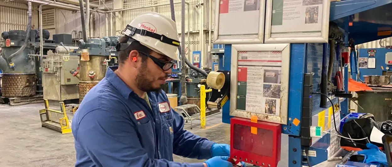
[[[0,167],[72,167],[75,163],[72,134],[42,128],[38,111],[43,103],[22,106],[0,105]],[[230,125],[221,123],[221,114],[207,118],[207,128],[185,129],[218,143],[230,142]],[[198,124],[199,121],[195,121]],[[287,135],[282,135],[279,167],[287,167]],[[176,162],[201,162],[174,155]]]

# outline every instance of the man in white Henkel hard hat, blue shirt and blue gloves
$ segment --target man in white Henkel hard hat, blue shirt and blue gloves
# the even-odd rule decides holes
[[[231,167],[230,147],[183,129],[160,89],[179,60],[176,23],[147,12],[123,31],[119,66],[84,97],[73,118],[76,167]],[[203,163],[172,162],[172,154]]]

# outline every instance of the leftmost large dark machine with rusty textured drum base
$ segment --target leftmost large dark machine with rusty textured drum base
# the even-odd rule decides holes
[[[54,34],[53,40],[48,40],[49,31],[42,30],[42,37],[39,32],[40,30],[29,30],[29,33],[23,30],[2,32],[5,41],[0,43],[0,68],[3,71],[1,98],[4,103],[15,105],[41,101],[43,88],[40,55],[55,50],[59,45],[72,44],[70,34]],[[41,51],[38,49],[40,39],[43,41]]]

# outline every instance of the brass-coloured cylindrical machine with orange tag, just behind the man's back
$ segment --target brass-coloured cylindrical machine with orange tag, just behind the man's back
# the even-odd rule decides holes
[[[109,67],[111,59],[111,48],[107,48],[105,39],[91,38],[87,42],[80,40],[78,49],[69,53],[71,56],[79,56],[79,68],[69,71],[73,76],[79,79],[79,103],[84,96],[100,80],[105,77],[106,69]]]

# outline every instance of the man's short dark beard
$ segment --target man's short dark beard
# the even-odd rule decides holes
[[[136,85],[137,87],[143,92],[160,92],[162,90],[162,86],[165,84],[160,85],[160,87],[153,87],[151,80],[148,80],[148,75],[151,74],[150,70],[147,68],[147,63],[143,62],[142,66],[138,70],[138,75],[136,75]],[[169,75],[166,74],[166,77]]]

